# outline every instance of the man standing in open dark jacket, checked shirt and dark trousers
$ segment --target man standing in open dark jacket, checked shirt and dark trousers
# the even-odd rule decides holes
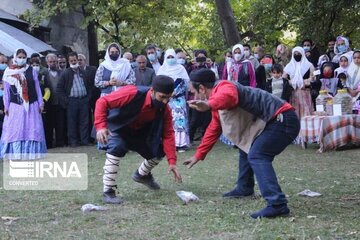
[[[70,147],[89,144],[89,100],[93,83],[80,68],[78,55],[68,55],[70,68],[62,72],[57,85],[60,104],[67,109],[68,141]],[[80,139],[78,137],[78,132]]]

